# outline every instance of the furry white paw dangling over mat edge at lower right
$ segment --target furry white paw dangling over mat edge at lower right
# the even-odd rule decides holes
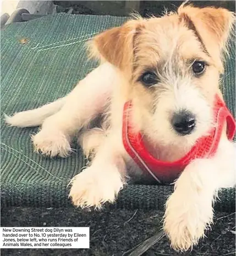
[[[204,237],[204,231],[210,227],[213,218],[211,201],[197,196],[188,196],[175,191],[167,200],[164,215],[164,231],[177,251],[192,249]],[[187,196],[186,196],[187,195]],[[203,201],[201,201],[203,200]]]

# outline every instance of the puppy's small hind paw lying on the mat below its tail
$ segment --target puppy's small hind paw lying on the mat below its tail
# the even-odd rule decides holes
[[[61,132],[41,130],[32,136],[32,142],[36,152],[46,156],[67,157],[72,151],[67,137]]]

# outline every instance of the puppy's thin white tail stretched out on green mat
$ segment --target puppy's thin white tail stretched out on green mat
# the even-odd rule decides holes
[[[65,103],[65,98],[60,98],[55,102],[48,103],[37,109],[26,110],[15,113],[13,116],[5,115],[5,120],[10,126],[33,127],[39,126],[43,121],[55,113],[57,113]]]

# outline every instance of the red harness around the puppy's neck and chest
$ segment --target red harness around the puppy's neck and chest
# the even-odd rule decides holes
[[[209,158],[215,154],[222,134],[224,121],[227,122],[227,136],[233,140],[235,120],[226,104],[218,95],[214,105],[213,127],[209,135],[199,138],[184,157],[174,162],[160,161],[147,151],[140,132],[134,133],[130,124],[131,101],[125,103],[123,112],[122,139],[125,150],[138,166],[148,172],[158,183],[172,183],[178,178],[183,169],[196,158]]]

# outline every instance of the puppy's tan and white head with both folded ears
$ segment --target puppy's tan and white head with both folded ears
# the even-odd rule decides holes
[[[133,101],[135,127],[149,140],[189,150],[207,134],[233,22],[226,9],[182,5],[95,37],[93,53],[129,81],[122,90]]]

